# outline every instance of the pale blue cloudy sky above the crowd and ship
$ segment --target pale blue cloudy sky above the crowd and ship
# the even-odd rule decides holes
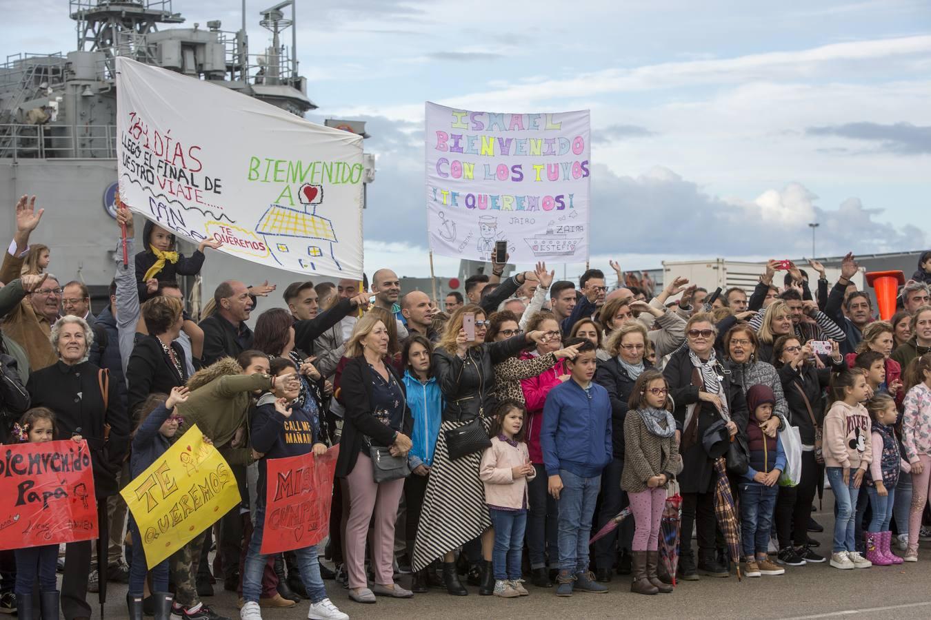
[[[266,2],[247,2],[252,51]],[[0,53],[73,48],[63,0],[0,7],[17,26]],[[236,0],[173,10],[188,25],[240,21]],[[299,0],[298,20],[311,118],[369,123],[367,270],[427,271],[425,100],[590,109],[600,267],[808,256],[809,222],[819,256],[931,244],[927,0]]]

